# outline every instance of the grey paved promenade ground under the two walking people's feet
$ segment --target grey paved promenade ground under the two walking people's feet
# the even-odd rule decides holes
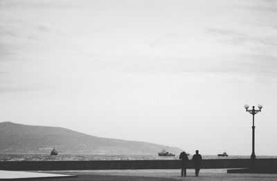
[[[78,175],[78,178],[55,178],[46,180],[69,181],[172,181],[172,180],[277,180],[277,174],[258,173],[226,173],[226,169],[202,169],[195,177],[193,169],[187,170],[187,177],[181,178],[181,171],[177,169],[166,170],[107,170],[107,171],[43,171],[44,173],[61,173]]]

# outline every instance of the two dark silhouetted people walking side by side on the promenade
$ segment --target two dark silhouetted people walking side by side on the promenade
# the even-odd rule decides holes
[[[202,161],[202,156],[199,154],[199,151],[195,151],[193,155],[193,164],[195,165],[195,175],[198,176]],[[188,166],[188,155],[186,152],[180,153],[179,159],[181,160],[181,176],[186,177],[186,167]]]

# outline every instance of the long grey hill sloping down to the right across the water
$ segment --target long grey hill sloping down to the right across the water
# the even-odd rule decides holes
[[[1,122],[0,134],[0,153],[48,154],[55,146],[60,154],[156,155],[166,148],[161,144],[96,137],[66,128],[12,122]],[[175,154],[181,152],[176,147],[167,150]]]

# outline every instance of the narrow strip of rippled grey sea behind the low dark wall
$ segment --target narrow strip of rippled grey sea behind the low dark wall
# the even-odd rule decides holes
[[[189,155],[191,159],[193,156]],[[249,155],[202,155],[203,159],[242,159]],[[277,158],[277,156],[257,155],[256,158]],[[60,160],[179,160],[175,157],[159,157],[158,155],[44,155],[44,154],[0,154],[0,161],[60,161]]]

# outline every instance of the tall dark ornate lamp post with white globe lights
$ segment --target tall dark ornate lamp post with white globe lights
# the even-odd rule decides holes
[[[253,115],[253,124],[252,124],[252,154],[251,154],[251,166],[255,167],[255,125],[254,125],[254,116],[262,110],[262,104],[258,105],[258,110],[255,109],[255,106],[252,106],[251,110],[248,110],[249,105],[245,104],[244,108],[246,108],[247,112]]]

